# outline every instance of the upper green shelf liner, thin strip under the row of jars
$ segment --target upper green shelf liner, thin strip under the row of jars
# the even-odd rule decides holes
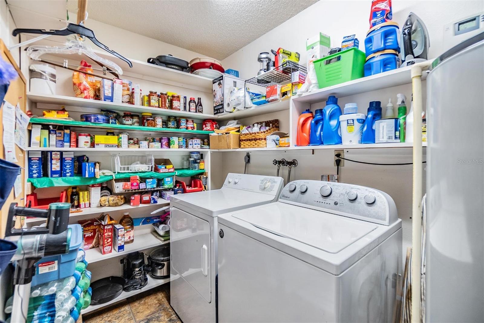
[[[205,130],[185,130],[185,129],[169,129],[169,128],[156,128],[156,127],[143,127],[143,126],[111,125],[107,123],[70,121],[70,120],[63,120],[63,119],[53,120],[53,119],[43,119],[43,118],[30,118],[30,123],[61,125],[61,126],[71,126],[71,127],[136,130],[136,131],[148,131],[148,132],[155,131],[155,132],[194,133],[194,134],[210,134],[213,132],[213,131],[205,131]]]

